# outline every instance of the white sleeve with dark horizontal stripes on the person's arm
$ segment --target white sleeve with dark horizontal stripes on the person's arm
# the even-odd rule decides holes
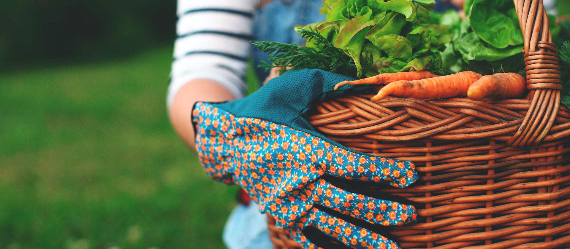
[[[168,106],[178,89],[204,78],[245,94],[255,0],[178,0],[178,38],[168,88]]]

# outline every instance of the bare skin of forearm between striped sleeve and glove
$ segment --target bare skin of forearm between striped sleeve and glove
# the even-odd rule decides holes
[[[211,80],[193,80],[174,96],[169,117],[174,130],[190,148],[194,148],[194,127],[190,120],[192,107],[198,101],[222,102],[235,99],[226,88]]]

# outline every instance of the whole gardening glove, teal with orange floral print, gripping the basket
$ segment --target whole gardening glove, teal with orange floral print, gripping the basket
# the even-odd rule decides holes
[[[345,80],[354,79],[291,70],[249,97],[196,103],[198,156],[210,177],[242,186],[304,248],[398,248],[382,227],[415,221],[415,208],[402,197],[359,186],[404,188],[418,179],[414,165],[351,150],[304,118],[314,103],[370,90],[333,90]]]

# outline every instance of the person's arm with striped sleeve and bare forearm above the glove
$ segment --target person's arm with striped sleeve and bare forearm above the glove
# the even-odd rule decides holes
[[[166,102],[172,126],[191,148],[194,103],[228,101],[245,93],[256,1],[177,1],[178,37]]]

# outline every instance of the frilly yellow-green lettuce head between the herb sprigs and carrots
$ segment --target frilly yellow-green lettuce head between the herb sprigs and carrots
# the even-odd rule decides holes
[[[439,53],[449,43],[447,26],[429,23],[434,0],[324,0],[324,22],[311,28],[342,49],[357,76],[410,70],[441,72]],[[308,41],[307,47],[320,49]]]

